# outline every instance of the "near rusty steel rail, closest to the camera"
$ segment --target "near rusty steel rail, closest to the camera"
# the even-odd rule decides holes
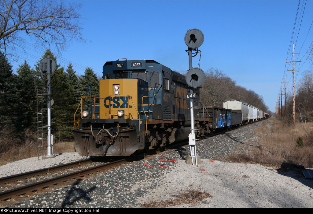
[[[120,165],[126,162],[126,159],[121,159],[121,160],[116,160],[110,163],[106,163],[106,164],[102,164],[99,166],[95,166],[89,169],[83,169],[81,171],[77,171],[77,172],[73,172],[70,174],[66,174],[66,175],[62,175],[56,178],[51,178],[48,180],[44,180],[44,181],[39,181],[37,183],[32,183],[32,184],[28,184],[26,186],[22,186],[22,187],[18,187],[15,189],[11,189],[11,190],[7,190],[4,191],[2,193],[0,193],[0,200],[4,201],[6,199],[9,199],[11,197],[16,197],[19,195],[23,195],[23,194],[27,194],[30,192],[34,192],[38,189],[42,189],[42,188],[47,188],[51,185],[55,185],[55,184],[60,184],[60,182],[64,182],[67,181],[69,179],[73,179],[73,178],[77,178],[77,177],[81,177],[84,175],[88,175],[91,173],[95,173],[98,171],[101,171],[103,169],[108,169],[110,167],[116,166],[116,165]]]

